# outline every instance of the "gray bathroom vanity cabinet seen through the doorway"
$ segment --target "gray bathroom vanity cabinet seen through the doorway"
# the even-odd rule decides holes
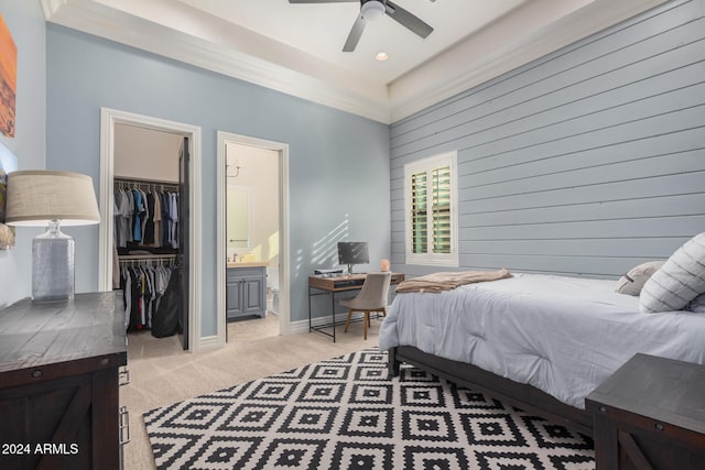
[[[264,318],[267,263],[228,263],[226,309],[228,321],[247,317]]]

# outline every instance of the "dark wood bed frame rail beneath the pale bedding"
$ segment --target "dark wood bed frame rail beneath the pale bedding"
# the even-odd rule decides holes
[[[392,376],[399,375],[402,362],[593,436],[593,417],[588,412],[566,405],[534,386],[501,378],[473,364],[432,356],[411,346],[398,346],[389,351],[389,371]]]

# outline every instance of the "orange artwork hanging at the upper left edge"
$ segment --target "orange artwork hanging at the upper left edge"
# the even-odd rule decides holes
[[[0,14],[0,132],[14,136],[14,100],[18,80],[18,46]]]

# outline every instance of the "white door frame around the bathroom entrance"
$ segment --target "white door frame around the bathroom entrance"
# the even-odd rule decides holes
[[[226,178],[226,146],[228,143],[256,146],[279,153],[279,334],[291,334],[291,317],[289,302],[289,144],[232,134],[218,131],[217,156],[217,236],[216,236],[216,269],[217,274],[217,311],[218,338],[225,346],[226,314],[226,270],[227,270],[227,178]]]

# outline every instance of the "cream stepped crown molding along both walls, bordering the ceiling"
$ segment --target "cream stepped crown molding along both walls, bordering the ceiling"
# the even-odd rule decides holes
[[[554,0],[534,0],[525,4],[522,15],[502,18],[389,85],[372,83],[181,2],[150,0],[153,17],[137,17],[129,11],[134,1],[41,3],[46,21],[391,123],[666,0],[562,0],[562,12]],[[174,14],[165,18],[164,11]],[[166,24],[182,17],[189,20],[187,32]],[[520,28],[527,19],[534,28]],[[530,32],[519,35],[518,31]]]

